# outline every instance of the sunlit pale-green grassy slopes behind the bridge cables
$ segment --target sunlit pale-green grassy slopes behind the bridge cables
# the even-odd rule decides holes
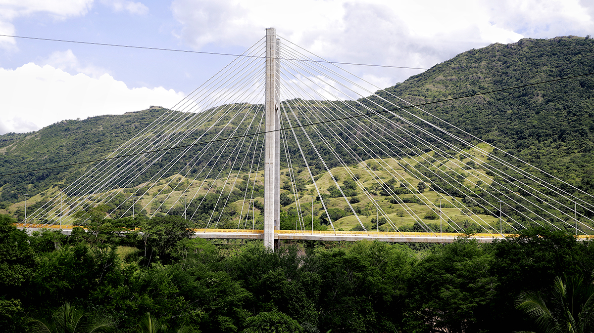
[[[403,194],[399,194],[398,197],[405,199],[404,201],[407,201],[406,199],[411,199],[411,201],[404,204],[397,203],[387,194],[381,193],[381,189],[378,189],[377,185],[378,179],[389,181],[393,177],[387,171],[381,170],[375,170],[373,176],[369,175],[369,171],[371,171],[369,166],[374,164],[390,165],[391,168],[402,175],[406,181],[406,185],[403,184],[403,187],[406,187],[407,190],[403,191]],[[343,187],[347,181],[351,180],[350,174],[346,170],[348,168],[352,174],[358,177],[358,180],[364,187],[369,190],[370,196],[366,196],[361,190],[350,193],[352,195],[346,198],[333,196],[331,189],[334,186],[334,181],[330,178],[330,174],[328,172],[321,172],[315,176],[315,184],[320,189],[326,208],[330,211],[334,228],[337,230],[360,228],[359,220],[365,225],[366,229],[378,228],[382,231],[389,231],[394,230],[394,226],[399,230],[403,227],[412,228],[413,223],[418,219],[412,217],[409,212],[413,212],[414,215],[418,216],[425,223],[433,223],[435,228],[438,228],[437,226],[440,220],[437,216],[431,216],[431,212],[440,206],[444,216],[449,217],[450,223],[456,223],[466,228],[472,224],[471,220],[481,221],[485,226],[486,223],[493,226],[498,225],[497,217],[489,214],[474,214],[472,210],[467,209],[467,207],[459,203],[462,200],[460,197],[454,198],[431,189],[419,192],[416,190],[419,184],[418,178],[408,174],[406,169],[402,167],[402,164],[403,161],[397,161],[396,159],[375,159],[365,161],[364,164],[360,165],[331,169],[334,179],[337,180],[340,187]],[[476,170],[476,174],[469,172],[466,181],[475,183],[479,178],[485,182],[491,181],[489,177],[485,178],[479,175],[479,171],[481,170]],[[311,181],[308,184],[308,172],[305,172],[301,168],[294,170],[294,172],[296,177],[302,181],[301,184],[307,185],[304,185],[301,189],[300,197],[296,198],[288,186],[289,169],[285,168],[281,170],[282,193],[286,194],[286,197],[290,199],[283,203],[281,227],[283,229],[310,229],[313,223],[313,228],[316,230],[330,229],[331,226],[327,222],[324,223],[324,220],[327,220],[326,212],[315,190],[315,185]],[[258,172],[257,177],[255,191],[252,193],[251,185],[247,185],[246,182],[248,178],[247,174],[230,175],[231,181],[229,183],[234,185],[232,186],[228,183],[224,188],[226,177],[221,179],[192,180],[182,175],[172,175],[157,182],[157,185],[152,187],[144,196],[134,198],[135,213],[147,214],[149,216],[160,216],[161,214],[186,216],[188,219],[197,223],[198,228],[235,229],[239,227],[261,229],[263,223],[264,172]],[[254,174],[250,178],[253,180]],[[394,182],[394,187],[397,187],[397,185],[399,183]],[[115,218],[121,214],[132,216],[132,200],[127,198],[131,197],[140,187],[112,191],[115,197],[110,203],[110,208],[103,207],[105,209],[104,212],[109,212],[106,217]],[[57,188],[49,188],[43,196],[37,194],[29,198],[29,212],[44,202],[44,196],[52,196],[56,190]],[[192,194],[187,194],[188,192],[196,193],[193,200]],[[249,200],[251,196],[254,196],[255,203]],[[421,197],[421,200],[418,200],[418,197]],[[230,198],[229,202],[226,202],[227,198]],[[377,201],[378,208],[372,200]],[[201,201],[204,201],[203,208],[197,210],[196,208]],[[217,201],[219,201],[218,206],[216,204]],[[223,204],[223,201],[226,204]],[[347,201],[352,204],[357,216],[352,213]],[[120,204],[121,207],[115,210],[113,209]],[[143,207],[146,207],[146,209],[143,209]],[[187,208],[184,209],[184,207]],[[20,219],[24,218],[24,201],[12,204],[9,209]],[[298,216],[297,212],[299,210],[302,212],[301,216]],[[313,215],[311,214],[312,212]],[[379,223],[375,223],[376,216],[380,217],[378,220]],[[54,214],[48,216],[48,218],[56,221],[59,220],[57,210]],[[79,224],[80,218],[81,216],[71,216],[65,213],[62,223],[65,225]],[[386,219],[390,220],[393,225],[386,223]],[[447,220],[443,221],[444,231],[453,231],[451,228],[448,228],[446,222]],[[419,228],[420,230],[422,229]]]

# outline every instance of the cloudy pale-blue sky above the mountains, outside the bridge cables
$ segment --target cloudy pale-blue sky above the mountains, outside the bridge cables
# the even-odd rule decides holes
[[[592,0],[0,0],[0,34],[239,54],[268,27],[331,61],[431,68],[522,38],[594,35]],[[0,135],[173,107],[233,57],[0,37]],[[419,69],[346,66],[386,88]]]

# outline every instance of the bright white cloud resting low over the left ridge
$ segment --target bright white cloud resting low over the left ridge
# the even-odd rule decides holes
[[[108,74],[91,78],[34,63],[14,71],[0,68],[0,131],[29,132],[64,119],[123,114],[150,105],[173,107],[182,98],[182,92],[162,87],[130,89]]]

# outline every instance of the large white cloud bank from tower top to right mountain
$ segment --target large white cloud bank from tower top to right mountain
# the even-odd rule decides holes
[[[197,49],[248,47],[276,27],[280,37],[331,60],[421,68],[495,42],[586,36],[594,28],[587,0],[174,0],[171,9],[179,36]],[[419,73],[352,68],[378,84]]]

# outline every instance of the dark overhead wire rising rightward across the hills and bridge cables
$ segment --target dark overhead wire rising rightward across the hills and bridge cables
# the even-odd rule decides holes
[[[2,36],[2,35],[0,35],[0,36]],[[406,108],[416,108],[416,107],[422,107],[422,106],[425,106],[425,105],[431,105],[431,104],[444,103],[444,102],[448,102],[448,101],[461,100],[463,98],[469,98],[469,97],[474,97],[474,96],[479,96],[479,95],[486,95],[486,94],[493,94],[495,92],[508,91],[508,90],[519,89],[519,88],[525,88],[525,87],[530,87],[530,86],[533,86],[533,85],[541,85],[541,84],[546,84],[546,83],[551,83],[551,82],[563,81],[563,80],[567,80],[567,79],[575,79],[575,78],[580,78],[580,77],[583,77],[583,76],[589,76],[589,75],[593,75],[593,74],[594,74],[594,72],[584,73],[584,74],[580,74],[580,75],[565,76],[563,78],[557,78],[557,79],[551,79],[551,80],[546,80],[546,81],[540,81],[540,82],[535,82],[535,83],[532,83],[532,84],[524,84],[524,85],[519,85],[519,86],[515,86],[515,87],[510,87],[510,88],[503,88],[503,89],[497,89],[497,90],[491,90],[491,91],[485,91],[485,92],[478,92],[476,94],[471,94],[471,95],[464,95],[464,96],[459,96],[459,97],[447,98],[445,100],[440,100],[440,101],[432,101],[432,102],[415,104],[415,105],[407,105],[407,106],[399,107],[399,108],[390,108],[390,109],[386,109],[386,110],[375,111],[375,112],[368,112],[368,113],[364,113],[364,114],[355,114],[354,116],[342,117],[342,118],[339,118],[339,119],[331,119],[331,120],[325,120],[325,121],[318,121],[316,123],[307,123],[307,124],[301,124],[301,125],[298,125],[298,126],[284,127],[282,129],[273,130],[273,131],[265,131],[265,132],[258,132],[258,133],[247,134],[247,135],[239,135],[239,136],[227,137],[225,139],[217,139],[217,140],[208,140],[208,141],[203,141],[203,142],[196,142],[196,143],[192,143],[191,145],[181,145],[181,146],[175,146],[175,147],[170,147],[170,148],[155,149],[155,150],[152,150],[152,151],[146,151],[146,152],[140,152],[140,153],[132,153],[132,154],[127,154],[127,155],[114,156],[114,157],[110,157],[110,158],[93,159],[91,161],[84,161],[84,162],[77,162],[77,163],[71,163],[71,164],[58,165],[56,167],[34,169],[34,170],[29,170],[29,171],[11,172],[10,174],[1,174],[0,177],[7,177],[7,176],[11,176],[11,175],[18,175],[18,174],[26,174],[26,173],[29,173],[29,172],[45,171],[45,170],[57,169],[57,168],[74,167],[75,165],[89,164],[89,163],[101,162],[101,161],[109,161],[111,159],[118,159],[118,158],[130,157],[130,156],[144,155],[144,154],[147,154],[147,153],[154,153],[154,152],[170,151],[170,150],[173,150],[173,149],[188,148],[188,147],[191,147],[191,146],[207,145],[208,143],[216,143],[216,142],[222,142],[222,141],[226,141],[226,140],[241,139],[242,137],[250,137],[250,136],[256,136],[256,135],[262,135],[262,134],[266,134],[266,133],[269,133],[269,132],[280,132],[280,131],[286,131],[286,130],[291,130],[291,129],[298,129],[298,128],[306,127],[306,126],[314,126],[314,125],[318,125],[318,124],[333,123],[334,121],[348,120],[348,119],[365,117],[365,116],[373,116],[374,114],[383,114],[383,113],[387,113],[387,112],[390,112],[390,111],[397,111],[397,110],[402,110],[402,109],[406,109]]]

